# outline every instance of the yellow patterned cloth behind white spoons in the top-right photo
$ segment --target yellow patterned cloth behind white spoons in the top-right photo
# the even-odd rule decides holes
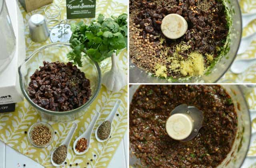
[[[242,14],[256,14],[256,0],[240,0],[239,1]],[[252,20],[244,29],[242,37],[247,37],[256,32],[256,19]],[[256,40],[253,40],[250,47],[243,54],[236,57],[238,59],[256,58]],[[232,83],[256,83],[256,64],[250,66],[248,70],[242,74],[233,74],[228,70],[220,81],[229,81]]]

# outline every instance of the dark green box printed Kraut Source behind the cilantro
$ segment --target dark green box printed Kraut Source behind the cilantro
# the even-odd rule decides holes
[[[66,0],[67,18],[94,18],[96,0]]]

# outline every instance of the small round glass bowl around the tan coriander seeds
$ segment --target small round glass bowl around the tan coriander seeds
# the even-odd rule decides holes
[[[50,130],[50,132],[51,132],[51,135],[52,135],[50,141],[49,141],[47,144],[43,145],[43,146],[38,146],[38,145],[36,145],[35,142],[32,140],[32,137],[31,137],[34,128],[36,128],[36,126],[40,126],[40,125],[43,125],[43,126],[48,127],[49,130]],[[51,126],[50,124],[48,124],[48,123],[46,123],[46,122],[36,122],[36,123],[34,123],[32,126],[30,126],[30,128],[29,128],[29,130],[28,130],[28,140],[29,140],[29,142],[30,142],[33,146],[35,146],[35,147],[37,147],[37,148],[45,148],[45,147],[49,146],[50,144],[52,144],[52,142],[53,142],[53,140],[54,140],[54,135],[55,135],[55,134],[54,134],[54,129],[52,128],[52,126]]]

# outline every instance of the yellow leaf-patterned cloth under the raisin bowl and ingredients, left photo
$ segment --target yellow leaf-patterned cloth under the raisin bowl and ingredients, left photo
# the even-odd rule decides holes
[[[53,4],[60,6],[61,18],[65,19],[66,0],[54,0]],[[44,7],[41,7],[30,13],[26,13],[20,4],[19,7],[22,12],[25,24],[26,56],[29,56],[32,54],[32,52],[34,52],[36,48],[50,43],[50,39],[43,43],[35,43],[32,42],[32,40],[29,38],[28,19],[32,14],[39,13],[44,15]],[[100,13],[107,17],[111,15],[118,16],[119,14],[127,13],[127,6],[118,2],[113,2],[112,0],[97,0],[96,16]],[[82,19],[69,20],[68,22],[78,22],[80,20]],[[92,19],[83,19],[86,24],[89,24],[90,20]],[[110,69],[110,62],[110,59],[106,59],[100,64],[102,74]],[[118,66],[120,68],[124,68],[127,71],[127,50],[123,50],[120,53]],[[108,116],[116,100],[122,100],[122,102],[117,112],[119,116],[115,116],[114,122],[112,124],[113,129],[111,138],[104,143],[99,143],[95,138],[95,134],[92,133],[91,144],[88,152],[84,155],[76,155],[74,151],[72,151],[75,138],[77,138],[86,130],[95,112],[100,112],[100,117],[95,125],[96,128],[99,122],[102,122]],[[24,132],[28,131],[28,128],[32,124],[41,120],[42,119],[40,116],[34,112],[34,109],[26,100],[17,103],[15,112],[0,114],[0,140],[18,152],[28,156],[29,158],[32,158],[42,166],[50,168],[52,167],[50,162],[50,154],[53,149],[58,147],[64,138],[66,138],[66,135],[72,126],[72,122],[49,122],[52,124],[54,130],[56,131],[54,142],[51,146],[40,149],[35,148],[30,144],[27,139],[27,135]],[[106,88],[102,86],[98,97],[94,100],[90,106],[90,109],[84,116],[78,120],[75,120],[74,122],[78,124],[78,128],[76,129],[76,132],[70,143],[67,165],[64,166],[68,167],[69,164],[75,166],[76,163],[78,163],[78,166],[76,166],[77,168],[103,168],[108,166],[112,156],[120,144],[120,141],[122,140],[123,135],[127,130],[127,87],[124,87],[122,90],[120,90],[120,92],[112,93],[107,91]]]

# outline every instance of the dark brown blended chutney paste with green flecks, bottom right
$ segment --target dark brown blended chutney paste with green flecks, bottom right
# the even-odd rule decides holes
[[[187,142],[173,140],[165,129],[180,104],[204,112],[202,128]],[[230,152],[237,131],[234,104],[218,85],[142,85],[130,104],[130,144],[142,165],[160,168],[213,168]]]

